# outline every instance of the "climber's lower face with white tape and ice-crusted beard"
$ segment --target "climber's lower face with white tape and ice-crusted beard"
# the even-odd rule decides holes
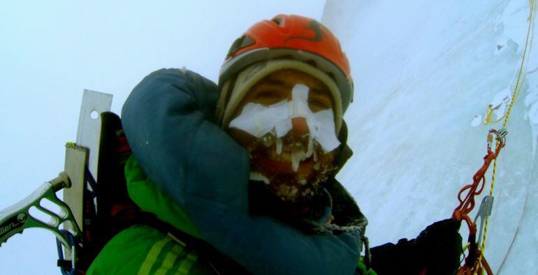
[[[335,134],[332,109],[312,112],[308,87],[293,87],[292,101],[263,106],[247,103],[230,122],[252,136],[246,144],[251,158],[250,179],[263,181],[266,188],[286,202],[302,202],[319,191],[335,166],[333,155],[340,145]],[[303,117],[306,135],[291,133],[292,121]],[[234,129],[234,130],[235,130]]]

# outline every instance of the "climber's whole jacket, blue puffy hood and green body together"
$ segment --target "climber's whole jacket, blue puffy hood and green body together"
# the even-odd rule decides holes
[[[126,165],[133,201],[248,272],[353,274],[366,219],[351,196],[335,180],[328,186],[341,222],[312,223],[321,234],[249,214],[248,153],[213,121],[217,98],[214,83],[188,70],[158,70],[133,89],[122,110],[134,156]],[[207,270],[187,251],[157,230],[133,226],[103,248],[89,274],[152,274],[170,262],[172,273],[182,265]]]

